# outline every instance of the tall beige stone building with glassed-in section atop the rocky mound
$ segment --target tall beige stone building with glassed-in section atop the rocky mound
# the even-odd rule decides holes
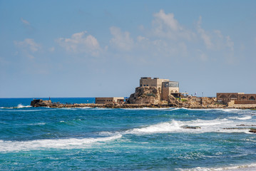
[[[177,96],[180,93],[179,83],[168,79],[141,77],[140,87],[153,87],[161,92],[161,100],[168,100],[168,95]]]

